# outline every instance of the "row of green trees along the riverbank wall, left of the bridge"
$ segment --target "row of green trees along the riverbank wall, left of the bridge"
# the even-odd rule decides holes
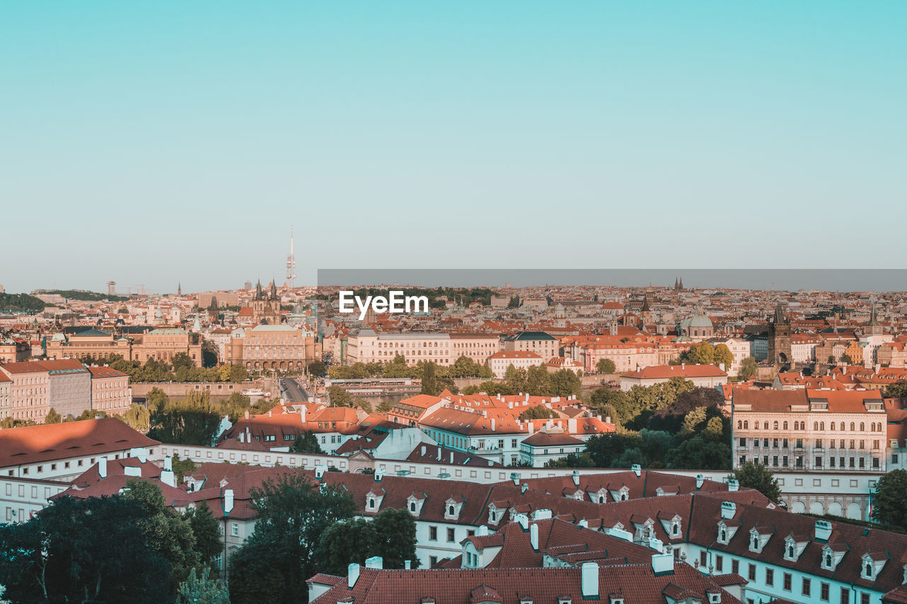
[[[197,367],[186,353],[177,353],[170,363],[149,358],[144,365],[139,361],[127,361],[122,355],[110,355],[101,359],[85,356],[80,360],[85,365],[110,365],[113,369],[129,375],[131,382],[233,382],[239,384],[249,378],[249,372],[241,365]]]

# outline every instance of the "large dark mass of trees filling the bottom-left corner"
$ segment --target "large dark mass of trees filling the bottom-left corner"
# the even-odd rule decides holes
[[[0,551],[12,601],[151,604],[193,601],[187,582],[207,580],[220,537],[206,504],[179,513],[160,487],[135,478],[122,494],[63,497],[28,521],[0,524]]]

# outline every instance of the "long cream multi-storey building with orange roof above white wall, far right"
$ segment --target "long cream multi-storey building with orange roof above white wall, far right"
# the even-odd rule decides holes
[[[736,390],[734,467],[885,472],[885,405],[874,391]]]

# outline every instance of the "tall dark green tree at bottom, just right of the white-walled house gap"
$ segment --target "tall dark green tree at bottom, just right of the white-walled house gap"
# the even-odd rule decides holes
[[[356,504],[339,489],[288,472],[251,489],[255,531],[229,560],[230,600],[297,602],[317,572],[321,534],[353,516]]]

